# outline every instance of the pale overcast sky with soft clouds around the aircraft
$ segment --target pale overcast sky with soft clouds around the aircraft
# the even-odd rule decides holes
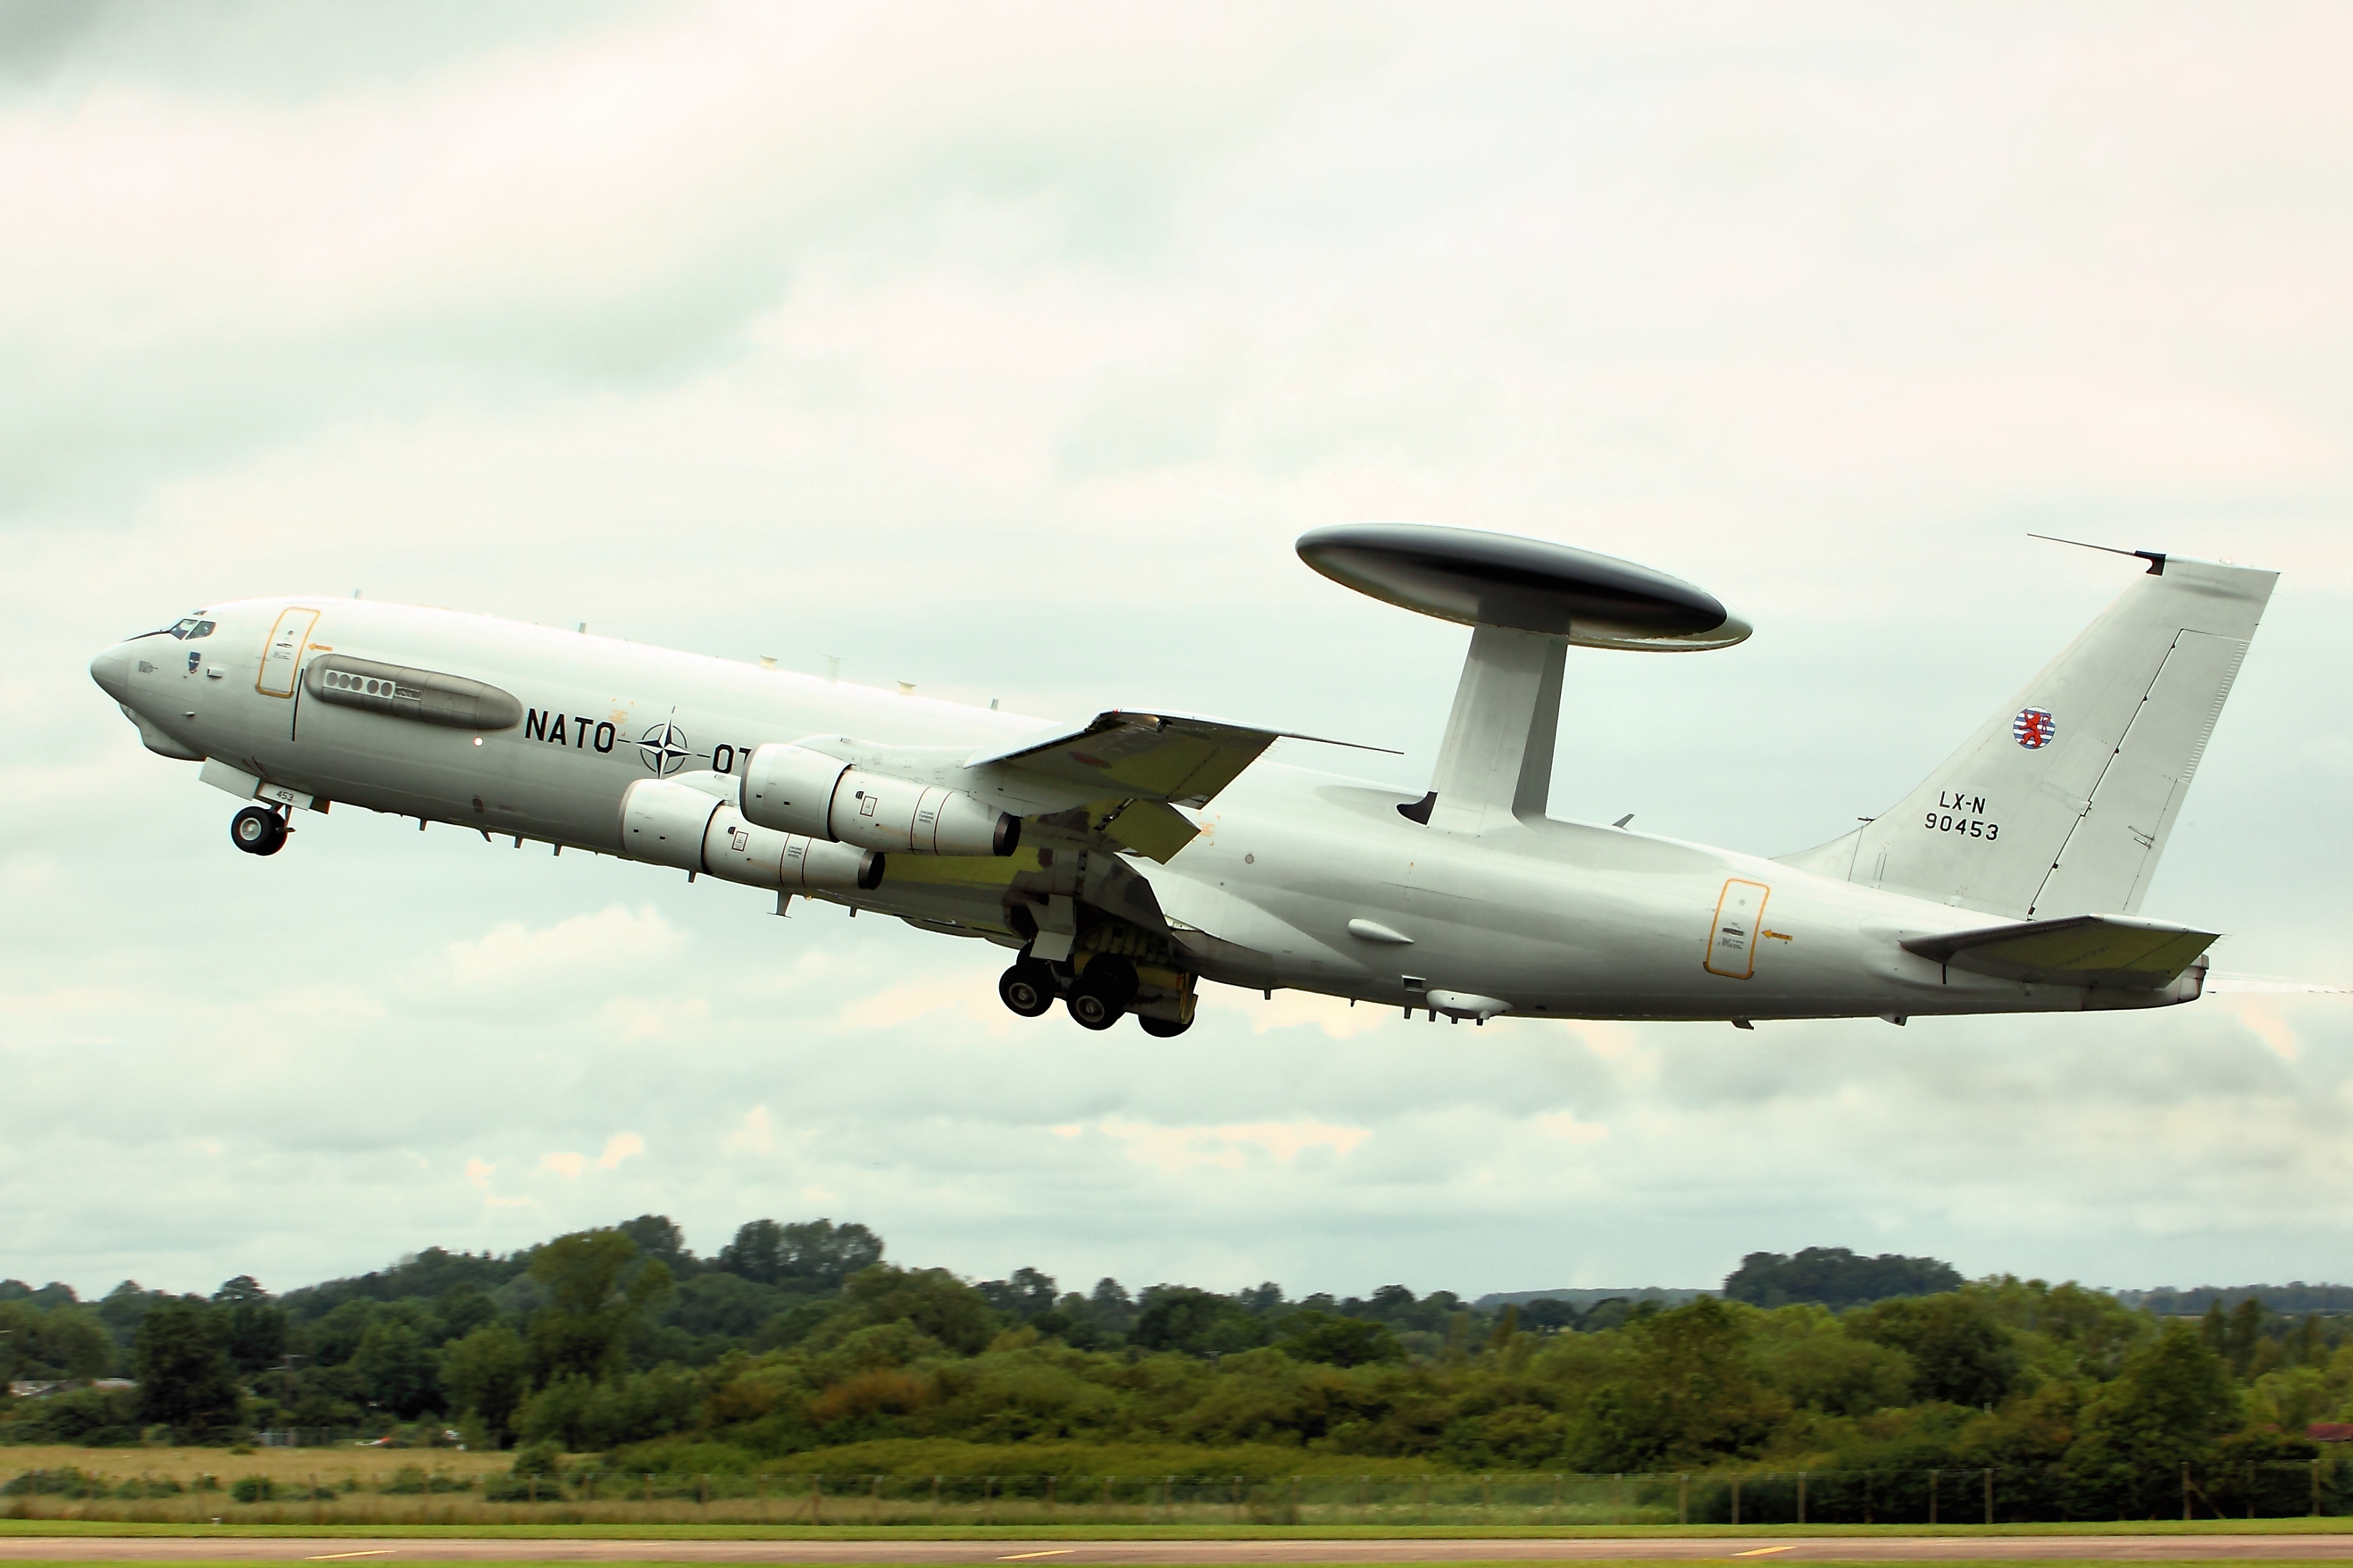
[[[1400,1023],[998,1004],[887,919],[336,811],[231,849],[89,656],[362,590],[1400,748],[1344,520],[1687,576],[1553,809],[1885,809],[2132,581],[2285,576],[2148,914],[2353,983],[2341,7],[0,0],[0,1276],[273,1288],[645,1211],[1304,1291],[1755,1248],[2344,1279],[2353,999]]]

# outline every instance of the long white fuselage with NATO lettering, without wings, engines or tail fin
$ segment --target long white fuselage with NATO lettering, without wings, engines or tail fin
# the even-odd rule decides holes
[[[447,672],[511,693],[527,717],[473,731],[322,703],[268,668],[289,609],[318,611],[294,646],[296,668],[344,654]],[[645,778],[734,773],[762,743],[819,733],[984,748],[1045,724],[438,609],[247,599],[205,618],[207,637],[136,637],[92,665],[151,748],[339,806],[614,856],[628,853],[621,797]],[[1419,1009],[1447,992],[1499,999],[1518,1016],[1751,1020],[2162,1006],[2198,994],[2195,976],[2139,994],[1974,976],[1899,943],[1984,926],[1981,912],[1617,827],[1513,820],[1445,832],[1400,816],[1407,802],[1268,757],[1191,813],[1200,837],[1167,865],[1122,858],[1169,926],[1202,938],[1188,943],[1202,978],[1388,1006]],[[892,856],[871,891],[824,896],[1019,945],[1000,889],[925,875],[911,860]],[[1753,917],[1753,936],[1737,945],[1720,940],[1727,898]]]

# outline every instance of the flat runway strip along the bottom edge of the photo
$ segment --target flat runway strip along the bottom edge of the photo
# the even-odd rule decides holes
[[[515,1540],[5,1535],[0,1561],[285,1563],[2014,1563],[2353,1559],[2353,1535],[1774,1535],[1579,1540]]]

